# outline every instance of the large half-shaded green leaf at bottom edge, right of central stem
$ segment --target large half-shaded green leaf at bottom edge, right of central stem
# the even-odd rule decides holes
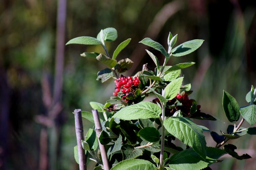
[[[226,154],[225,151],[217,148],[207,147],[206,159],[203,160],[193,149],[186,149],[170,157],[169,167],[175,170],[201,170]],[[168,169],[168,168],[167,168]]]

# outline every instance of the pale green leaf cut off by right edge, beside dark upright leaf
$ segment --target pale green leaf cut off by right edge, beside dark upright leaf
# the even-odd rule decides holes
[[[256,122],[256,105],[249,105],[240,109],[242,117],[252,126]]]

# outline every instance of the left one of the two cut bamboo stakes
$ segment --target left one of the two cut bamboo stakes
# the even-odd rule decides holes
[[[82,122],[82,112],[81,109],[75,109],[75,133],[76,133],[76,141],[77,141],[77,150],[79,157],[79,169],[86,170],[86,158],[85,151],[82,147],[82,140],[84,140],[84,130],[83,130],[83,122]]]

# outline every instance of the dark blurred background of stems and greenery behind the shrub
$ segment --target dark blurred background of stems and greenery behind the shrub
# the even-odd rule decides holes
[[[215,122],[198,121],[210,130],[226,132],[229,125],[222,109],[223,90],[240,106],[256,86],[256,1],[246,0],[1,0],[0,1],[0,169],[75,170],[76,145],[73,110],[90,111],[90,101],[105,103],[114,83],[96,81],[104,65],[80,53],[103,52],[101,46],[69,45],[77,36],[96,37],[101,29],[114,27],[116,41],[110,53],[127,38],[130,44],[118,59],[134,65],[124,75],[134,75],[144,63],[154,69],[145,53],[144,37],[167,48],[169,31],[178,34],[176,44],[204,39],[195,52],[172,58],[168,65],[193,61],[182,71],[191,83],[190,98]],[[160,63],[163,56],[157,55]],[[84,131],[91,127],[84,120]],[[244,127],[250,125],[244,123]],[[220,134],[220,133],[219,133]],[[207,136],[208,146],[215,142]],[[253,158],[224,161],[212,169],[253,169],[254,136],[230,141],[239,154]],[[94,163],[88,163],[93,169]]]

